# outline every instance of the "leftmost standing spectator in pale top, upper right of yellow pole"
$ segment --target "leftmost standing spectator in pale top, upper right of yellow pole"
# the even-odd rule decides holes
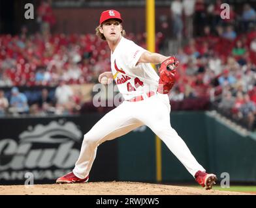
[[[170,10],[172,14],[172,32],[174,38],[176,38],[178,41],[182,40],[182,6],[183,5],[181,0],[174,0],[170,5]]]

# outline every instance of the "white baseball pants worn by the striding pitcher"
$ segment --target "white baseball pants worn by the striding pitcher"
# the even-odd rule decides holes
[[[145,97],[144,97],[145,98]],[[184,140],[170,125],[170,102],[166,94],[155,94],[142,101],[123,101],[99,120],[84,135],[80,156],[73,169],[74,175],[84,179],[89,175],[96,157],[97,146],[106,140],[112,140],[147,125],[159,136],[168,149],[184,164],[188,172],[195,177],[198,170],[205,171],[187,148]],[[143,148],[143,147],[142,147]]]

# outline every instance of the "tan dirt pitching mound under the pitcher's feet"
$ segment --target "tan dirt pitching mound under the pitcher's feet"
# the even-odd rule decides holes
[[[80,184],[6,185],[0,186],[0,195],[244,195],[244,192],[204,190],[137,182],[89,182]]]

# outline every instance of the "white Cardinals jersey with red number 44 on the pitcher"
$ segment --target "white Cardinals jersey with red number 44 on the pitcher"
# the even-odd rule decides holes
[[[136,64],[144,51],[133,41],[121,37],[111,53],[111,70],[125,100],[157,90],[159,76],[151,64]]]

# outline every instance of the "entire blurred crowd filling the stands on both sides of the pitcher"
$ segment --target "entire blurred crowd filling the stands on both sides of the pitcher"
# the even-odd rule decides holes
[[[173,14],[176,38],[188,41],[176,54],[180,65],[169,98],[176,103],[209,101],[222,114],[255,129],[256,12],[248,4],[234,12],[231,5],[230,19],[221,19],[220,4],[172,1],[172,10],[179,13]],[[110,71],[106,42],[95,34],[51,34],[49,25],[35,34],[27,34],[25,27],[16,36],[0,34],[0,87],[11,89],[0,90],[0,115],[79,113],[82,94],[71,85],[97,83],[99,73]],[[146,48],[146,34],[128,33],[127,38]],[[167,38],[157,32],[157,52]],[[31,101],[20,92],[22,86],[42,90]]]

